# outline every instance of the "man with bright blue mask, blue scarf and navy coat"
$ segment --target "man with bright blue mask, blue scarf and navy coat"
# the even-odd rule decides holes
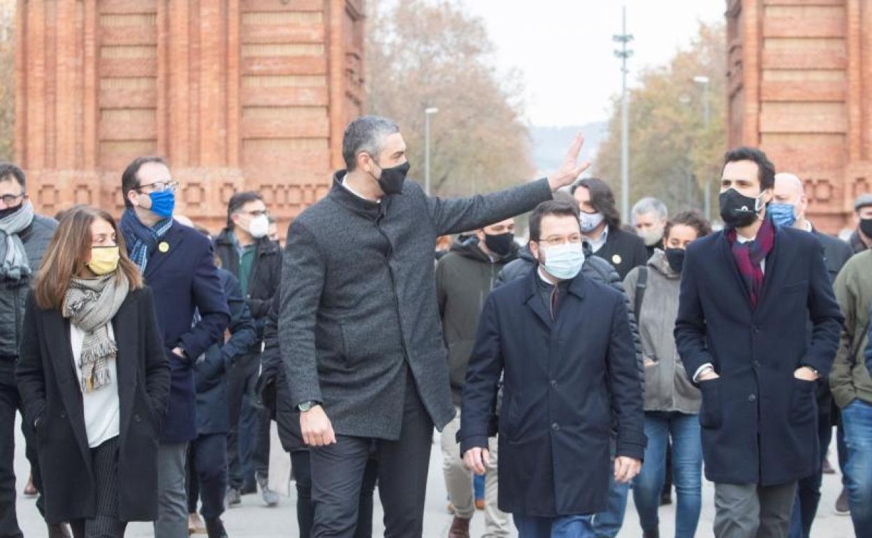
[[[187,443],[197,437],[194,363],[221,342],[230,313],[215,269],[212,245],[194,228],[173,220],[179,183],[160,157],[140,157],[121,176],[126,210],[121,217],[127,253],[154,294],[154,309],[173,371],[158,449],[156,538],[187,537]],[[194,322],[194,312],[199,321]],[[207,526],[208,526],[207,522]],[[225,535],[221,521],[209,536]]]

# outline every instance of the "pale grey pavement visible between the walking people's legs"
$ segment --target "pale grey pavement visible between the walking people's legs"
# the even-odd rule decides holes
[[[24,443],[21,434],[18,430],[16,440],[16,473],[18,477],[18,491],[24,488],[24,482],[27,480],[27,462],[24,459]],[[835,462],[835,446],[832,448],[833,457],[831,461]],[[395,462],[397,472],[402,473],[402,463]],[[835,515],[833,506],[835,498],[839,494],[839,476],[828,475],[824,477],[823,499],[821,501],[821,510],[818,514],[818,521],[812,530],[814,538],[851,538],[854,536],[853,528],[851,527],[850,518],[847,516]],[[293,488],[291,488],[293,492]],[[631,497],[631,496],[630,496]],[[283,498],[282,503],[276,508],[263,507],[259,499],[255,495],[248,495],[242,498],[242,507],[235,507],[225,514],[224,521],[228,529],[230,538],[255,538],[255,537],[283,537],[290,538],[296,536],[296,500],[291,498]],[[712,535],[712,520],[714,518],[714,507],[712,504],[713,489],[708,483],[705,483],[703,490],[703,514],[699,524],[697,536],[705,537]],[[661,535],[668,538],[673,535],[673,522],[675,520],[675,505],[664,507],[660,511],[661,518]],[[384,528],[381,526],[381,508],[376,507],[374,516],[375,529],[373,535],[380,536],[383,534]],[[24,499],[19,496],[18,499],[18,518],[24,530],[24,536],[27,538],[36,538],[45,535],[44,525],[34,506],[34,501]],[[476,514],[473,519],[473,536],[480,536],[483,532],[483,517],[481,514]],[[426,502],[426,521],[424,535],[427,538],[443,538],[447,535],[448,526],[451,523],[451,516],[446,513],[446,493],[445,481],[442,478],[439,443],[433,445],[431,453],[430,465],[430,480],[427,487],[427,502]],[[127,528],[127,536],[131,537],[146,537],[152,535],[152,528],[148,524],[135,523]],[[638,520],[635,509],[632,507],[632,499],[630,506],[627,508],[627,519],[624,524],[623,531],[619,535],[620,538],[635,538],[641,535],[638,528]]]

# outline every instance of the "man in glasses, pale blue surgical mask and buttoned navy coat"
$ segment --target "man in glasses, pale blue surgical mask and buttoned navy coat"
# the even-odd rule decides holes
[[[645,449],[642,386],[623,294],[581,274],[578,207],[546,201],[530,216],[537,265],[487,298],[467,367],[460,451],[490,460],[497,390],[500,509],[521,538],[594,538],[610,474],[630,482]],[[612,417],[617,422],[610,464]]]

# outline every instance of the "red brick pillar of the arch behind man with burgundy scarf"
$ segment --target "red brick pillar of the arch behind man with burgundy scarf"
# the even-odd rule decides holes
[[[816,226],[850,226],[872,187],[872,3],[726,3],[730,145],[798,174]]]

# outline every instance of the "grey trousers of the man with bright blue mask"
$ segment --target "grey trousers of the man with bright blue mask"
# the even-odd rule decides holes
[[[187,443],[158,447],[158,521],[154,538],[187,538]]]

